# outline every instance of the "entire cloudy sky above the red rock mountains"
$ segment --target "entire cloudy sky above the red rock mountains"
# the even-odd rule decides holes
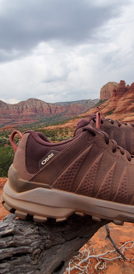
[[[0,0],[0,100],[95,99],[134,82],[134,0]]]

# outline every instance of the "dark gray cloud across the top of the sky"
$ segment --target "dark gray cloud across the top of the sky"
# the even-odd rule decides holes
[[[125,5],[124,1],[121,3]],[[96,1],[87,0],[3,0],[0,61],[27,55],[43,41],[91,42],[95,39],[94,30],[109,18],[117,17],[120,11],[120,1],[98,6]]]

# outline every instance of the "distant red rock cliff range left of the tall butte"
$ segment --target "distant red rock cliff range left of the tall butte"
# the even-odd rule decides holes
[[[0,101],[0,125],[3,127],[44,121],[57,122],[86,112],[98,101],[99,99],[89,99],[51,104],[30,98],[13,105]]]

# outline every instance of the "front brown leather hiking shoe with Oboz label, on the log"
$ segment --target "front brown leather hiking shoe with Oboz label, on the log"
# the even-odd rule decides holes
[[[74,138],[50,142],[32,130],[19,133],[18,147],[4,186],[2,204],[22,219],[35,222],[72,214],[96,221],[134,222],[134,159],[87,119],[78,122]]]

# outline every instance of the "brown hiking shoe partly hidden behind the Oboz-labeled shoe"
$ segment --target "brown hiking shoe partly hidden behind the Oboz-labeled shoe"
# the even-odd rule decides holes
[[[92,116],[91,124],[96,127],[96,114]],[[98,128],[98,126],[97,126]],[[133,123],[121,123],[120,121],[114,121],[113,119],[101,118],[100,129],[106,132],[110,139],[114,139],[117,145],[123,147],[130,154],[134,155],[134,124]]]

